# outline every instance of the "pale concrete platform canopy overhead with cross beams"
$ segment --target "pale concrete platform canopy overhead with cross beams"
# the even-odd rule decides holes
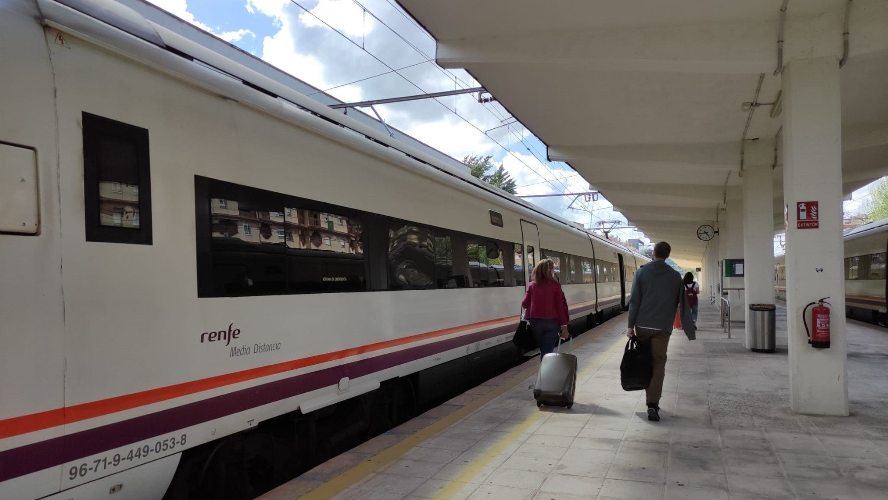
[[[697,227],[718,227],[719,207],[740,197],[744,102],[762,104],[746,132],[755,161],[773,161],[780,146],[781,0],[400,4],[437,39],[441,66],[470,71],[547,144],[551,160],[569,163],[648,237],[671,242],[680,265],[700,266]],[[789,0],[783,62],[830,53],[837,63],[848,4]],[[841,70],[845,195],[888,175],[888,2],[851,4]]]

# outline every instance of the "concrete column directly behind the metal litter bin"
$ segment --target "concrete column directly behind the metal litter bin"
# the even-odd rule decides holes
[[[773,303],[773,144],[746,147],[743,171],[743,288],[749,304]],[[749,307],[744,308],[746,347],[749,348]]]

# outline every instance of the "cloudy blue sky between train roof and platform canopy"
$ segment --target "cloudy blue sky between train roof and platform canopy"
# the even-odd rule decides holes
[[[266,60],[337,99],[356,101],[480,86],[462,70],[433,61],[432,36],[394,0],[148,0]],[[519,194],[579,193],[589,184],[496,103],[477,94],[377,106],[387,123],[444,153],[492,155],[518,182]],[[493,129],[493,130],[491,130]],[[622,218],[610,203],[535,198],[564,218],[589,224]],[[589,210],[593,210],[590,212]],[[623,219],[624,220],[624,219]],[[621,224],[623,226],[624,224]],[[618,230],[623,240],[638,237]]]

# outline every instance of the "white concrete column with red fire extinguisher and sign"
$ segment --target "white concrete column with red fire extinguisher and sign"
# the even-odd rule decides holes
[[[790,405],[815,415],[848,415],[842,247],[842,135],[835,57],[792,60],[782,72],[783,199],[786,234]],[[797,202],[819,203],[817,229],[797,228]],[[802,310],[829,297],[831,345],[808,345]],[[808,322],[810,323],[810,309]]]

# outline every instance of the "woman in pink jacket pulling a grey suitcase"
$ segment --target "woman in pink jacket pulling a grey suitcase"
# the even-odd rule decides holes
[[[527,294],[521,301],[525,309],[524,317],[530,323],[540,356],[555,350],[559,331],[561,338],[567,339],[567,300],[561,291],[561,284],[555,280],[555,263],[551,258],[543,258],[531,274],[533,282],[527,287]]]

